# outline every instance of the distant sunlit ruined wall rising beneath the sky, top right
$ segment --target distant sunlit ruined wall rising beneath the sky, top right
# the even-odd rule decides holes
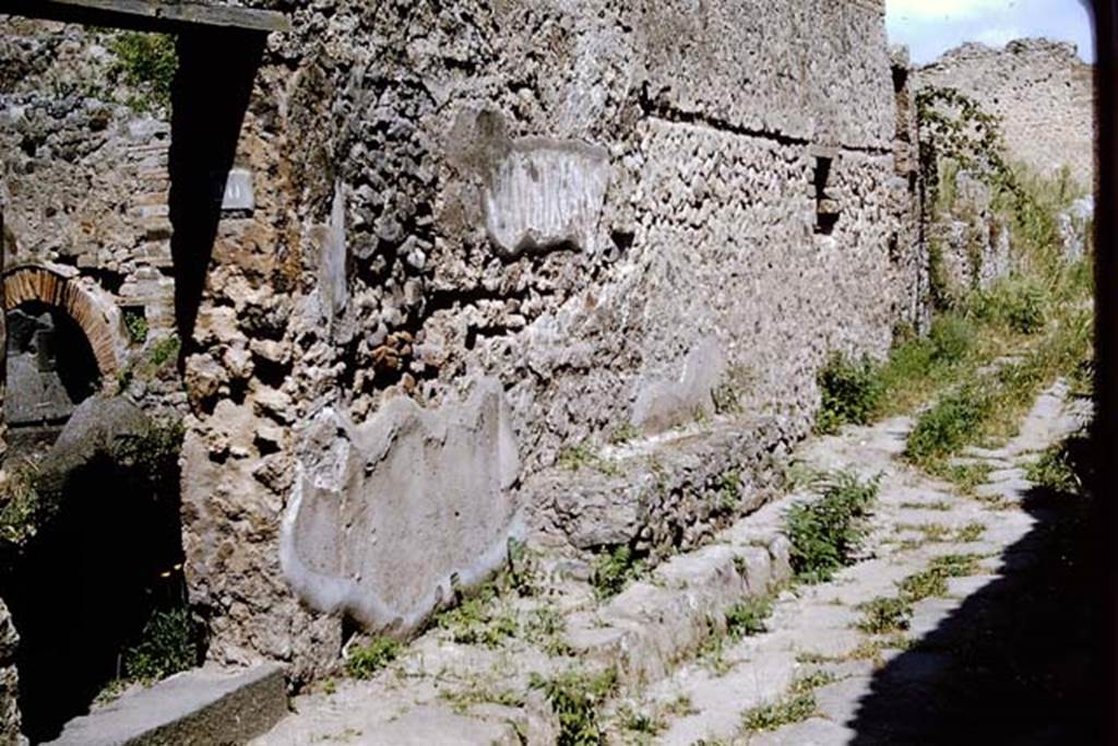
[[[1095,70],[1070,44],[1011,41],[1004,49],[965,44],[917,74],[920,86],[958,88],[1002,117],[1012,161],[1044,176],[1062,167],[1095,183]]]

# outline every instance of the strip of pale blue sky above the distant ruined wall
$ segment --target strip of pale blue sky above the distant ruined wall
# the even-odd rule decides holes
[[[964,41],[1001,47],[1022,37],[1072,41],[1095,62],[1091,17],[1081,0],[885,0],[891,44],[929,63]]]

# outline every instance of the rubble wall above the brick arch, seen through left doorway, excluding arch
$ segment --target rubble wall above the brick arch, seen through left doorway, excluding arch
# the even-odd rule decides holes
[[[7,266],[76,267],[142,309],[155,330],[174,325],[168,219],[170,126],[113,103],[103,89],[103,34],[9,19],[0,34],[0,148]]]

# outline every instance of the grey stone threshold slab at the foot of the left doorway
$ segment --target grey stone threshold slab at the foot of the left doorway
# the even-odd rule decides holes
[[[287,714],[283,668],[202,668],[127,693],[70,720],[56,746],[243,744]]]

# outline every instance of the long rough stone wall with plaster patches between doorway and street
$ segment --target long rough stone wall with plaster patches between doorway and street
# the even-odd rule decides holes
[[[211,653],[302,670],[499,564],[563,446],[727,381],[795,440],[916,313],[880,6],[332,11],[269,41],[187,366]]]

